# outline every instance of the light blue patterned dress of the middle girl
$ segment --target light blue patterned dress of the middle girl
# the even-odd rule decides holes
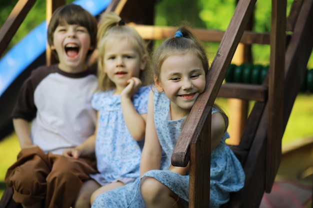
[[[147,101],[151,86],[144,86],[132,97],[132,104],[139,114],[147,113]],[[138,178],[143,141],[135,141],[124,122],[120,96],[114,90],[96,92],[91,99],[92,107],[99,111],[95,155],[99,175],[91,175],[100,184],[119,178]]]

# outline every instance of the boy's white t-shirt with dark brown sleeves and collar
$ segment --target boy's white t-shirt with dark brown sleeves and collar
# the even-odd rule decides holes
[[[34,145],[62,154],[94,133],[96,112],[90,101],[96,89],[92,70],[72,74],[57,65],[39,67],[24,82],[12,117],[31,121]]]

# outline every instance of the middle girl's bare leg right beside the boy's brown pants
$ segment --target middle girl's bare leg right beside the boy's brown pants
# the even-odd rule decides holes
[[[100,187],[101,186],[92,179],[83,182],[72,208],[90,208],[91,194]]]

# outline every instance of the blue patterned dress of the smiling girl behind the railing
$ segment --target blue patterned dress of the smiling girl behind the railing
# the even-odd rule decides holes
[[[218,109],[212,108],[212,113]],[[154,122],[157,136],[162,147],[160,170],[151,170],[142,177],[149,176],[160,181],[172,190],[187,207],[189,175],[181,176],[168,171],[171,165],[171,154],[179,137],[185,118],[169,120],[169,100],[164,93],[154,92]],[[241,164],[225,144],[228,138],[225,132],[215,150],[211,153],[210,166],[210,208],[219,208],[229,200],[229,193],[240,190],[244,185],[244,172]],[[141,178],[142,178],[141,177]],[[92,208],[144,208],[140,195],[140,179],[124,187],[99,195]]]

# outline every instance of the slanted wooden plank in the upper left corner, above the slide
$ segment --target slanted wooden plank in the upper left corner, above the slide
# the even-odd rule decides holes
[[[0,28],[0,56],[36,0],[18,0]]]

